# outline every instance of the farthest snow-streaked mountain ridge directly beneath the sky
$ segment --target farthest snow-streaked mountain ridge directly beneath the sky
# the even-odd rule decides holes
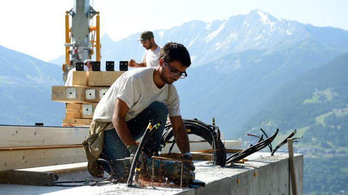
[[[282,50],[306,39],[314,39],[325,46],[333,47],[339,53],[348,51],[348,32],[345,30],[314,27],[297,21],[277,19],[260,10],[210,23],[192,20],[170,29],[154,30],[153,34],[154,40],[160,46],[173,41],[187,47],[192,67],[250,49]],[[137,42],[138,39],[139,33],[119,41],[112,41],[107,34],[104,34],[101,38],[104,70],[105,61],[129,59],[140,61],[144,48]],[[64,56],[60,56],[50,62],[62,64],[63,61]]]

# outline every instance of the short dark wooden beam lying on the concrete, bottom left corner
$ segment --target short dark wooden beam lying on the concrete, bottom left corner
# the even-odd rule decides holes
[[[6,170],[0,171],[0,183],[53,186],[55,174],[53,172]]]

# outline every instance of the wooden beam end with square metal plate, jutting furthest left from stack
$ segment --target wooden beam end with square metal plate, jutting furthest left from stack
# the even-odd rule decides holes
[[[67,95],[67,93],[70,95]],[[52,86],[51,100],[65,103],[83,103],[86,101],[86,88],[83,86]]]

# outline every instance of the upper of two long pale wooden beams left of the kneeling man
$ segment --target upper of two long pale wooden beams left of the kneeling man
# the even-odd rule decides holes
[[[88,132],[81,127],[0,126],[0,147],[81,144]]]

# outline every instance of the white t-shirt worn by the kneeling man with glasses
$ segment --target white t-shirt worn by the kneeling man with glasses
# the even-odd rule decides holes
[[[126,121],[138,116],[152,102],[163,102],[169,116],[180,116],[179,95],[173,84],[165,84],[161,89],[153,82],[154,67],[143,67],[125,72],[106,92],[95,107],[93,121],[112,122],[117,98],[126,102],[129,111]]]

